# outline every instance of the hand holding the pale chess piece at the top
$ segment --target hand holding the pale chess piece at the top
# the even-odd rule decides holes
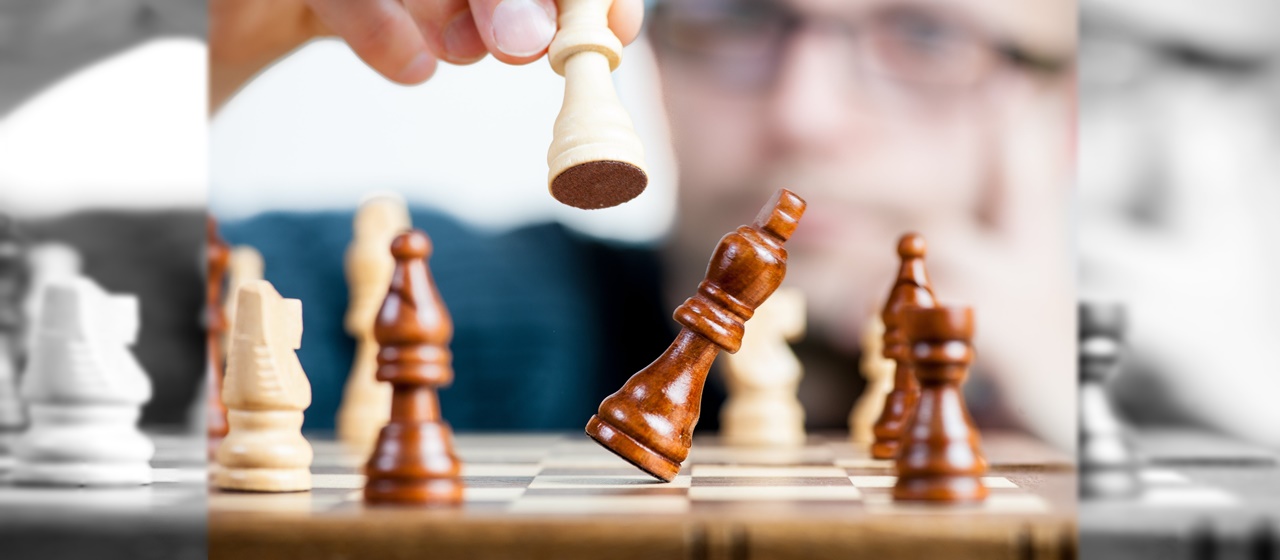
[[[440,60],[488,54],[529,64],[557,29],[554,0],[210,0],[210,102],[218,107],[253,74],[302,43],[337,36],[397,83],[425,82]],[[630,43],[644,4],[613,0],[609,28]]]

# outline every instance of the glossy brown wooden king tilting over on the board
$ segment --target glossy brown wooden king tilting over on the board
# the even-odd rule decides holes
[[[782,247],[805,202],[780,189],[751,225],[721,238],[698,294],[676,308],[682,329],[657,361],[600,403],[586,433],[644,472],[671,482],[689,456],[703,384],[719,349],[735,353],[742,323],[782,284]]]

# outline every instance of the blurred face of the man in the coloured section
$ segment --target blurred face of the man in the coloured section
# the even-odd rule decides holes
[[[788,283],[826,302],[810,309],[819,330],[855,346],[887,294],[899,235],[991,219],[991,109],[1009,72],[996,46],[1011,38],[1001,5],[1016,4],[664,6],[649,24],[680,160],[680,261],[700,274],[714,239],[790,188],[809,210],[788,243]],[[1050,28],[1069,36],[1071,23]]]

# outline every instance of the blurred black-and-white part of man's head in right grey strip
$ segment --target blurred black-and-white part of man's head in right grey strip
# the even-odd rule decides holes
[[[1277,20],[1271,0],[1082,5],[1082,292],[1130,304],[1135,354],[1160,372],[1119,378],[1130,403],[1235,432],[1222,418],[1247,407],[1197,403],[1233,386],[1206,372],[1271,359],[1257,343],[1280,306]]]

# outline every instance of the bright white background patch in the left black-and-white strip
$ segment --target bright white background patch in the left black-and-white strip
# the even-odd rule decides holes
[[[84,68],[0,120],[0,211],[200,207],[207,50],[152,41]]]

